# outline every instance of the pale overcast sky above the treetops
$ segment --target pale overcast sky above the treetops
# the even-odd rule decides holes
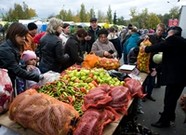
[[[0,0],[0,13],[7,12],[14,3],[22,5],[23,1],[29,8],[35,9],[40,18],[56,15],[62,8],[76,13],[82,3],[88,11],[93,8],[96,13],[101,10],[105,14],[110,5],[113,13],[116,11],[118,17],[123,16],[125,19],[130,18],[130,9],[133,7],[138,13],[147,8],[149,13],[164,14],[174,6],[186,5],[186,0]]]

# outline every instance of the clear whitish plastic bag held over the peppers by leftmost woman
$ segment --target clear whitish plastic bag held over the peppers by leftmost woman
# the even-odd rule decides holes
[[[54,71],[48,71],[44,73],[43,76],[44,76],[44,79],[42,79],[39,82],[40,86],[43,86],[47,83],[51,83],[51,82],[54,82],[55,80],[58,80],[60,78],[60,73],[54,72]]]

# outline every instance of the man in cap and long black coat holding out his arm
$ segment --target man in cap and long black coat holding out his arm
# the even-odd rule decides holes
[[[175,109],[186,85],[186,41],[181,37],[180,27],[171,27],[165,41],[142,47],[145,52],[163,52],[162,59],[162,84],[166,85],[164,97],[164,110],[160,119],[151,124],[154,127],[163,128],[171,126],[175,121]]]

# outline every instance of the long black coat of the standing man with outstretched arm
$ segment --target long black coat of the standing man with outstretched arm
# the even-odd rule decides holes
[[[186,41],[183,37],[170,36],[146,47],[145,52],[163,52],[162,84],[186,84]]]

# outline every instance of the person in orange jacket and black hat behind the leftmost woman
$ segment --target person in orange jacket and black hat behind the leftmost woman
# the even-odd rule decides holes
[[[27,25],[28,34],[26,35],[24,50],[35,51],[37,44],[34,42],[34,37],[37,34],[37,25],[34,22],[31,22]]]

